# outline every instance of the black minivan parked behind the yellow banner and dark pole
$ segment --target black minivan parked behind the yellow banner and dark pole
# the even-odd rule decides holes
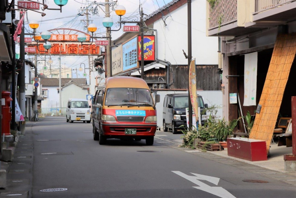
[[[201,109],[201,125],[207,120],[206,112],[203,113],[204,108],[208,108],[208,104],[204,104],[201,95],[198,96],[198,107]],[[188,94],[166,94],[163,101],[163,131],[172,129],[173,134],[177,130],[183,129],[182,125],[186,124],[186,107],[188,107]]]

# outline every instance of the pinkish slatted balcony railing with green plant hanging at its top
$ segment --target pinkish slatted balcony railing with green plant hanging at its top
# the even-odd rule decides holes
[[[209,21],[209,30],[237,21],[237,0],[219,0],[210,4]]]

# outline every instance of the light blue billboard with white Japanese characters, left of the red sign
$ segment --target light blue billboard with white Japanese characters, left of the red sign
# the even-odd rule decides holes
[[[137,37],[122,44],[122,56],[122,71],[137,68]]]

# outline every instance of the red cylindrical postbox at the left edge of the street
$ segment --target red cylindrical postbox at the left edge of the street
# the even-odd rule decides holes
[[[2,91],[2,135],[11,135],[10,134],[10,121],[11,121],[11,112],[10,112],[10,92]]]

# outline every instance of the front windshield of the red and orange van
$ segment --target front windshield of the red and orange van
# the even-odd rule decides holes
[[[105,105],[153,105],[149,89],[109,88],[106,92]]]

